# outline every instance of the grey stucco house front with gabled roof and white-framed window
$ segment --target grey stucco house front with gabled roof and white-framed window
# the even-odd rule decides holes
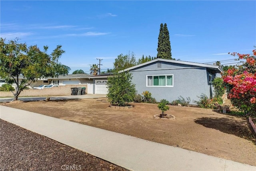
[[[169,102],[181,95],[185,99],[190,97],[191,104],[202,93],[211,97],[214,94],[212,80],[223,72],[215,65],[160,58],[124,71],[132,73],[132,82],[139,94],[150,91],[156,101],[166,99]]]

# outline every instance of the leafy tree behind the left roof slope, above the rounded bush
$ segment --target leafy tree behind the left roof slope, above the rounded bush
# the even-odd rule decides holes
[[[128,53],[126,55],[120,54],[117,56],[114,62],[114,71],[118,72],[121,70],[124,70],[126,68],[130,68],[132,66],[135,66],[136,63],[136,58],[134,53]]]

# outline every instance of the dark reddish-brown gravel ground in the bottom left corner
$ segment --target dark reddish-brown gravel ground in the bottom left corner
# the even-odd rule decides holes
[[[126,171],[0,119],[0,171]]]

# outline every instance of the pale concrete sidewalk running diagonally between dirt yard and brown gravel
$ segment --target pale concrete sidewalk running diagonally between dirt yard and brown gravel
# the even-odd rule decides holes
[[[0,117],[129,170],[256,171],[255,166],[2,105]]]

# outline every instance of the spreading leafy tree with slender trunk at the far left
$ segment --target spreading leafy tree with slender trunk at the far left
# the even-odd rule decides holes
[[[14,101],[18,99],[20,92],[38,78],[58,77],[67,75],[70,68],[59,62],[65,52],[58,45],[51,54],[47,53],[48,46],[44,51],[34,45],[27,47],[26,43],[18,43],[18,39],[8,43],[3,38],[0,40],[0,77],[7,84],[16,84]],[[19,76],[23,79],[20,81]]]

